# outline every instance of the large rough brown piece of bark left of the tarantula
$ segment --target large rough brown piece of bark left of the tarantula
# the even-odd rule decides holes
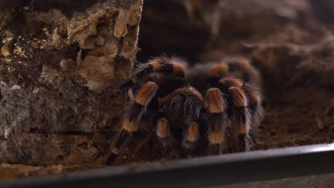
[[[0,4],[0,162],[101,164],[143,1]]]

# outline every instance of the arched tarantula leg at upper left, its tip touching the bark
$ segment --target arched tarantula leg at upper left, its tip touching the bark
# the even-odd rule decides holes
[[[170,73],[183,78],[186,71],[180,63],[171,61],[169,58],[153,58],[151,61],[148,61],[148,63],[143,63],[134,68],[131,78],[124,80],[123,83],[118,85],[118,90],[126,90],[133,87],[136,83],[148,78],[148,75],[151,73]]]

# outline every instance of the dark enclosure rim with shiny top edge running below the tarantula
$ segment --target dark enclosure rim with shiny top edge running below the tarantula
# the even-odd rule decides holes
[[[334,143],[27,177],[0,187],[204,187],[334,172]]]

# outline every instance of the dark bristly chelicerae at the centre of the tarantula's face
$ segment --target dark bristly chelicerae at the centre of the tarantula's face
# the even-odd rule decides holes
[[[190,86],[178,88],[171,93],[169,115],[172,120],[191,122],[199,117],[204,100],[201,93]]]

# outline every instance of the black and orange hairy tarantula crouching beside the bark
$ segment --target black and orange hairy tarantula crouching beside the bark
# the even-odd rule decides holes
[[[208,154],[243,152],[263,119],[260,75],[246,58],[188,66],[178,58],[153,58],[118,85],[128,90],[121,130],[112,144],[119,155],[134,132],[148,127],[161,147]]]

